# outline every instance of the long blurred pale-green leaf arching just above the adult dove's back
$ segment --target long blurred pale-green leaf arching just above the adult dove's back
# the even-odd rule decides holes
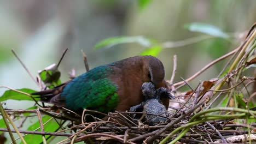
[[[112,38],[108,38],[100,41],[94,46],[94,49],[97,50],[102,47],[112,47],[117,44],[125,44],[125,43],[138,43],[138,44],[141,44],[142,46],[149,47],[150,45],[152,45],[152,40],[148,38],[144,38],[142,36],[112,37]]]

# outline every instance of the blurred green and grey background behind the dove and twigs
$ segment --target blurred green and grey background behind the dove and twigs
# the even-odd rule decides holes
[[[143,3],[145,2],[145,3]],[[166,68],[166,79],[172,73],[172,58],[177,55],[175,82],[196,73],[203,66],[235,49],[243,34],[256,20],[256,1],[0,1],[0,85],[39,90],[11,53],[14,49],[31,73],[36,76],[69,48],[60,70],[61,80],[68,72],[85,72],[81,49],[94,68],[123,58],[139,55],[146,47],[120,44],[109,49],[94,50],[101,40],[120,35],[143,35],[159,44],[205,35],[191,32],[184,25],[208,23],[232,35],[232,39],[211,38],[186,46],[163,48],[158,58]],[[224,61],[225,62],[225,61]],[[217,77],[224,62],[207,70],[191,83]],[[0,94],[6,89],[1,88]],[[7,107],[20,109],[22,103],[7,101]],[[10,105],[8,105],[10,104]]]

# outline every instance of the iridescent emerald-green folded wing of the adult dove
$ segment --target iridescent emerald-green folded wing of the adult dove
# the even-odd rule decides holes
[[[70,110],[113,111],[118,104],[118,86],[108,76],[114,74],[108,65],[91,69],[67,83],[61,93]]]

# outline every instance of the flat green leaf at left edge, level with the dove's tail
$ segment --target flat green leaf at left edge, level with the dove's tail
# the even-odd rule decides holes
[[[17,89],[17,90],[21,91],[21,92],[28,93],[28,94],[36,92],[33,89],[28,89],[28,88],[21,88],[21,89]],[[23,93],[15,92],[13,90],[5,91],[4,94],[0,97],[0,101],[4,101],[4,100],[8,100],[8,99],[33,100],[30,96],[23,94]],[[35,99],[39,100],[39,98],[35,98]]]

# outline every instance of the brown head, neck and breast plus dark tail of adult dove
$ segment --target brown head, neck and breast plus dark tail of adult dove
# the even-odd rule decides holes
[[[164,81],[165,70],[161,61],[153,56],[135,56],[126,58],[110,64],[114,70],[114,75],[109,75],[109,79],[118,86],[119,103],[115,110],[126,111],[131,106],[138,105],[144,100],[141,91],[142,83],[152,81],[156,88],[167,87]],[[72,81],[72,80],[71,80]],[[55,104],[58,107],[65,106],[65,98],[61,97],[61,92],[66,83],[53,89],[32,93],[40,95],[42,101]],[[168,108],[168,99],[162,99],[162,103]]]

